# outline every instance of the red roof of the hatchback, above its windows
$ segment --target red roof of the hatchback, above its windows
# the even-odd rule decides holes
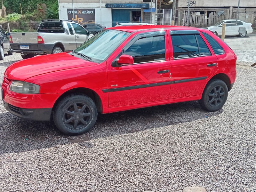
[[[199,28],[196,27],[185,27],[185,26],[170,26],[170,25],[127,25],[127,26],[117,26],[117,27],[111,27],[108,29],[114,29],[119,31],[125,31],[125,32],[134,32],[134,31],[143,31],[143,30],[149,30],[149,29],[175,29],[175,30],[198,30]],[[204,28],[200,28],[200,30],[204,30]],[[208,30],[208,29],[205,29]],[[208,30],[209,31],[209,30]]]

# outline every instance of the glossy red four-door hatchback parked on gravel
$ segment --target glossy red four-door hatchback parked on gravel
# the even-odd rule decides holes
[[[108,28],[72,52],[18,61],[4,73],[4,107],[28,120],[53,118],[82,134],[97,114],[199,100],[219,110],[236,79],[236,55],[201,28]]]

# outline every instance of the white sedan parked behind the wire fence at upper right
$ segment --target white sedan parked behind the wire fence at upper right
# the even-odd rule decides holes
[[[220,21],[215,25],[208,27],[208,29],[214,30],[216,35],[221,36],[222,24],[224,23],[226,24],[225,35],[238,35],[244,37],[246,34],[252,33],[252,23],[245,23],[244,21],[237,20],[236,25],[235,19]],[[243,28],[245,28],[245,31]]]

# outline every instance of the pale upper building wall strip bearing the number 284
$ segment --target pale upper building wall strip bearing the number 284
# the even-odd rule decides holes
[[[179,7],[187,7],[188,0],[179,0]],[[192,2],[192,3],[191,3]],[[191,0],[191,7],[237,7],[238,0],[212,1],[212,0]],[[256,7],[255,0],[242,0],[240,7]]]

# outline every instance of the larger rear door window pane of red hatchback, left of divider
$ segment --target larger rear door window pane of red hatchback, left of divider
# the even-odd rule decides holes
[[[171,39],[174,59],[199,56],[194,34],[171,35]]]

